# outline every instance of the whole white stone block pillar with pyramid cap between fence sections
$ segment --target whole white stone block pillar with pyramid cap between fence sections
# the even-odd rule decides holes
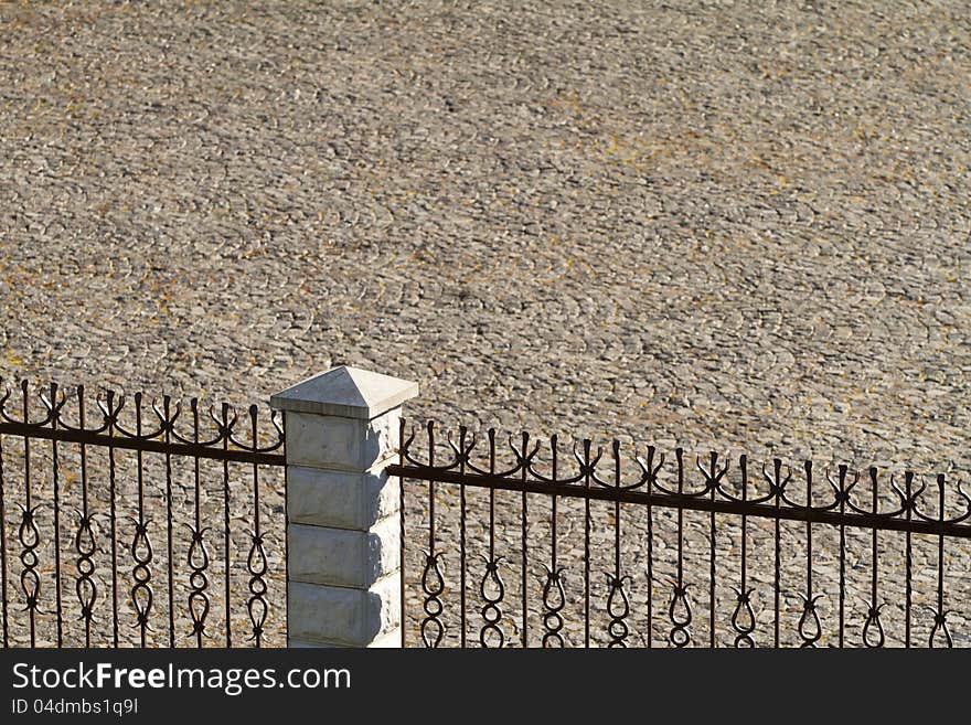
[[[401,495],[385,467],[418,385],[334,367],[270,398],[285,412],[288,647],[398,647]]]

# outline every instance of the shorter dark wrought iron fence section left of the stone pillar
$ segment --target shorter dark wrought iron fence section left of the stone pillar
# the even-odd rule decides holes
[[[265,430],[255,405],[18,388],[0,397],[4,647],[282,643],[276,414]]]

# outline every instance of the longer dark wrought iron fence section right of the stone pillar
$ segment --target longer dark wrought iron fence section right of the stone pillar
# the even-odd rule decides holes
[[[945,473],[627,455],[617,441],[564,451],[556,436],[500,445],[465,427],[442,440],[431,423],[424,436],[403,420],[388,468],[403,644],[971,641],[971,498]]]

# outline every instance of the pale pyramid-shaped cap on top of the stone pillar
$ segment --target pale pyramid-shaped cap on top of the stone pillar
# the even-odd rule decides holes
[[[270,407],[370,420],[418,394],[418,384],[339,365],[270,397]]]

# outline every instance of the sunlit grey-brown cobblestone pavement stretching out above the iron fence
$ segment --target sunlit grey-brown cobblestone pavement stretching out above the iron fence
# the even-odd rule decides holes
[[[0,4],[0,373],[967,469],[960,2]]]

